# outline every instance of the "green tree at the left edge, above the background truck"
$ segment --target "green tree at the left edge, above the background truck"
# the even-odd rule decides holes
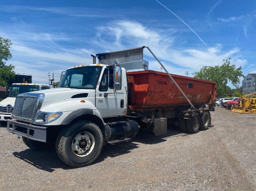
[[[5,61],[12,58],[12,54],[9,50],[11,45],[11,40],[0,37],[0,86],[3,87],[15,76],[15,72],[13,71],[15,67],[12,64],[8,66],[5,65]]]

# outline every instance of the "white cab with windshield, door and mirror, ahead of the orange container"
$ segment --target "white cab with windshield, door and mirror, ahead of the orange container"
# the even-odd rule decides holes
[[[76,96],[86,98],[86,102],[91,104],[90,108],[97,109],[102,118],[116,117],[125,115],[127,111],[127,104],[124,104],[127,102],[126,71],[121,69],[119,78],[122,85],[116,92],[113,78],[114,66],[79,65],[65,72],[58,88],[80,90],[81,93]]]

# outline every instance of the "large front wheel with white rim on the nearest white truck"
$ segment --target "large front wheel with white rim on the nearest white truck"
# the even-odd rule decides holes
[[[94,162],[101,153],[103,135],[91,121],[77,121],[63,128],[56,139],[56,152],[69,166],[82,167]]]

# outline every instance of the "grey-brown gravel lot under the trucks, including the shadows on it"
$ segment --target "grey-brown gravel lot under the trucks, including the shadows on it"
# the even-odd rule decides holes
[[[256,115],[217,107],[207,131],[138,134],[72,168],[0,127],[0,191],[255,191]]]

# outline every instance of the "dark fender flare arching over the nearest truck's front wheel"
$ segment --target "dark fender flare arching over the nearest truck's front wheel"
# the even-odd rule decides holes
[[[98,110],[95,109],[90,109],[90,108],[81,108],[73,111],[67,117],[61,122],[61,125],[67,125],[74,119],[78,118],[79,116],[82,115],[96,115],[98,118],[101,119],[102,125],[104,125],[104,121],[101,117],[101,114]]]

